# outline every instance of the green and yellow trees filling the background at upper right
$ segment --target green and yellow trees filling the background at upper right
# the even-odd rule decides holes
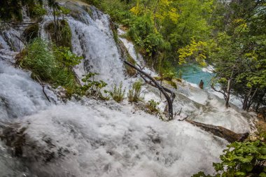
[[[178,64],[213,64],[225,106],[230,94],[255,111],[266,105],[265,1],[90,1],[123,24],[161,77]],[[174,73],[176,75],[176,73]]]

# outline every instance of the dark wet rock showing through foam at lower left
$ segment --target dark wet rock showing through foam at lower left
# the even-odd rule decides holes
[[[52,138],[43,135],[42,144],[38,144],[27,135],[27,127],[18,123],[1,127],[1,141],[6,144],[8,152],[29,165],[40,162],[46,164],[69,155],[70,150],[55,145]]]

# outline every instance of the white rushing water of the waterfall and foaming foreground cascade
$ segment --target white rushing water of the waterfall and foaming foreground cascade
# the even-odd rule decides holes
[[[73,34],[73,52],[85,57],[76,68],[78,76],[93,71],[109,85],[122,80],[129,84],[108,15],[91,8],[91,16],[79,6],[66,6],[80,12],[78,17],[66,17]],[[40,32],[48,37],[45,30]],[[66,104],[50,103],[30,73],[14,68],[13,61],[8,62],[13,55],[6,51],[14,51],[6,40],[0,35],[1,125],[11,123],[18,130],[26,130],[21,158],[12,157],[8,147],[0,143],[0,176],[183,177],[198,171],[214,172],[212,162],[218,162],[227,144],[225,140],[187,122],[163,122],[127,101],[117,104],[84,98]],[[132,54],[134,46],[128,46]],[[174,109],[183,108],[182,115],[190,114],[193,120],[222,125],[235,132],[249,131],[241,113],[233,108],[225,110],[223,101],[214,94],[188,85],[179,85],[175,92],[178,97]],[[145,93],[146,100],[161,101],[157,90]]]

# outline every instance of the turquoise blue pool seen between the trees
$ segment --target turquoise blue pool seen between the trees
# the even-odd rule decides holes
[[[214,76],[214,73],[202,71],[202,67],[197,64],[184,64],[176,68],[176,73],[179,73],[179,71],[182,71],[183,80],[197,85],[199,85],[200,80],[203,80],[204,88],[211,87],[211,78]]]

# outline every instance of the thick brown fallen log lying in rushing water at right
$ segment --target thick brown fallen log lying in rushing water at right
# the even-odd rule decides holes
[[[235,141],[244,141],[249,135],[248,132],[244,134],[237,134],[235,132],[232,132],[230,129],[226,129],[225,127],[204,124],[201,122],[195,122],[193,120],[186,120],[186,122],[189,122],[192,125],[200,127],[201,129],[204,129],[205,131],[210,132],[215,136],[221,137],[222,139],[225,139],[230,143]]]

